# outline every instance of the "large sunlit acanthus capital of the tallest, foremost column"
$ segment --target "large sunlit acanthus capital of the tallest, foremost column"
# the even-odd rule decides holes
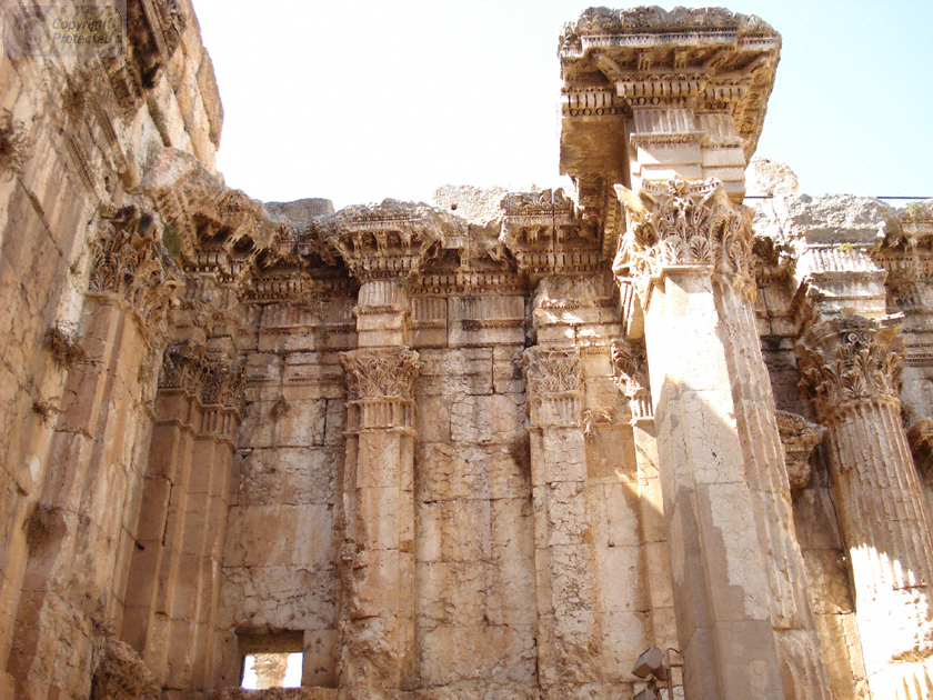
[[[638,198],[616,188],[629,226],[612,269],[631,276],[648,307],[653,281],[666,269],[696,267],[754,299],[752,210],[733,204],[715,178],[645,181]]]

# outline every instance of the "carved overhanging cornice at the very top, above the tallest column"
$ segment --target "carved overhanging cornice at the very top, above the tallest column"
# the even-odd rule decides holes
[[[780,50],[780,34],[760,18],[720,8],[591,8],[560,42],[564,116],[652,107],[725,112],[750,157]]]

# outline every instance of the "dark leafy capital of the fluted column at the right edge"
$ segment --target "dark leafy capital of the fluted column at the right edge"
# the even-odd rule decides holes
[[[904,350],[901,317],[835,318],[813,326],[796,344],[801,389],[821,422],[864,401],[900,403]]]

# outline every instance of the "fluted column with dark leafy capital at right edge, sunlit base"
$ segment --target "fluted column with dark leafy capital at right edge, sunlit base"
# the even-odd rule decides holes
[[[901,421],[896,317],[835,317],[797,344],[826,427],[835,507],[874,698],[933,696],[933,536]]]

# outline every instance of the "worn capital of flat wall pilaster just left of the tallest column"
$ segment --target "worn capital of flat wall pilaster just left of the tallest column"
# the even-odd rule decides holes
[[[522,373],[533,427],[582,424],[583,370],[575,347],[529,348],[522,356]]]

